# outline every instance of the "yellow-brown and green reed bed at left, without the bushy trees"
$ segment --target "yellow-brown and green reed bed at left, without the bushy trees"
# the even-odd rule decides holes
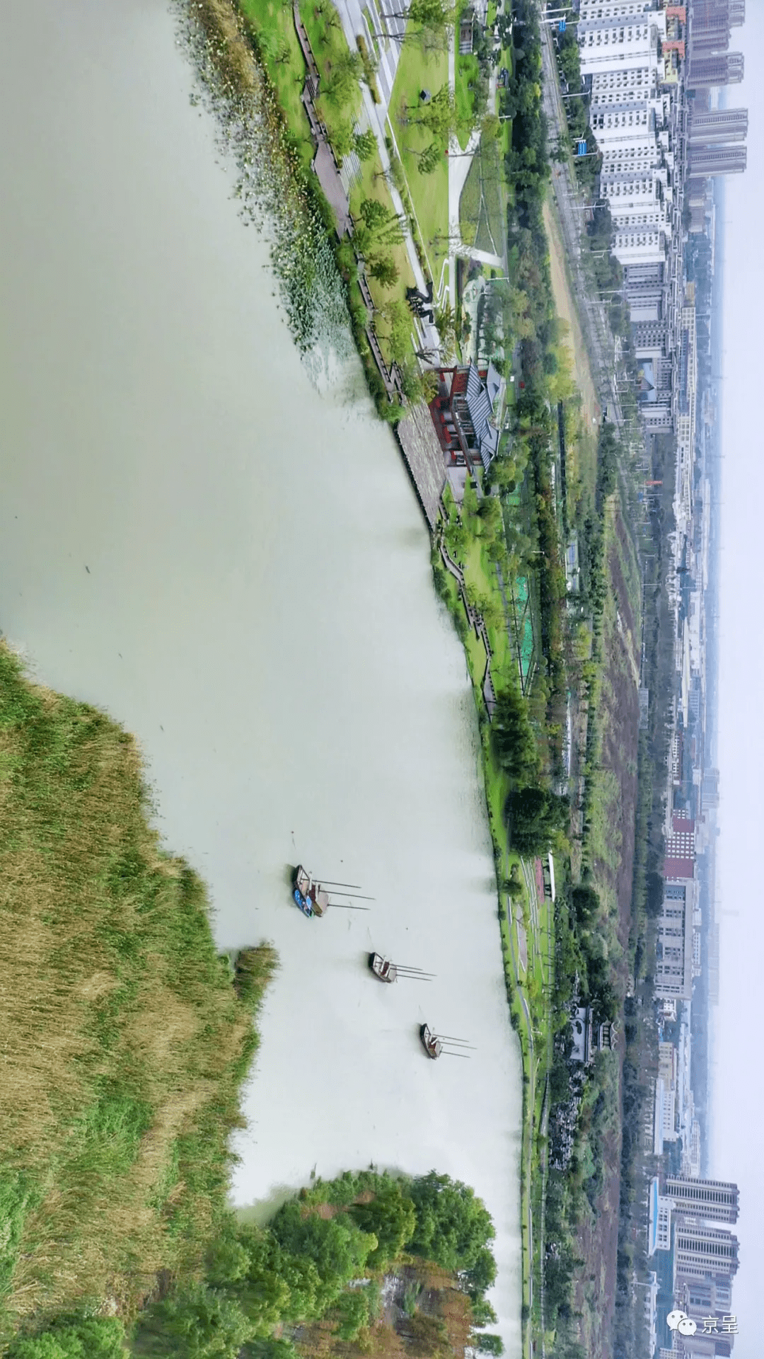
[[[0,1303],[7,1324],[196,1269],[275,966],[246,996],[151,829],[135,741],[0,644]],[[241,988],[238,988],[241,991]]]

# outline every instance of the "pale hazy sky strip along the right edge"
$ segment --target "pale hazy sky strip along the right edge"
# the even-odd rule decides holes
[[[725,186],[725,334],[720,556],[719,1006],[714,1031],[711,1174],[741,1189],[741,1267],[733,1288],[734,1359],[759,1359],[764,1332],[764,546],[761,318],[764,306],[764,0],[748,0],[731,46],[749,109],[748,170]],[[729,913],[727,913],[729,912]],[[734,915],[731,913],[734,912]]]

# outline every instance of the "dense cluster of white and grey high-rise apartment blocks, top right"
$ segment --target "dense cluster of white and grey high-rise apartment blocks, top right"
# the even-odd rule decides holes
[[[647,434],[678,436],[685,516],[696,424],[695,298],[682,241],[714,230],[710,181],[746,167],[748,110],[719,107],[742,80],[730,52],[745,0],[580,0],[578,42],[602,155],[600,193],[624,268]],[[710,220],[711,219],[711,220]]]

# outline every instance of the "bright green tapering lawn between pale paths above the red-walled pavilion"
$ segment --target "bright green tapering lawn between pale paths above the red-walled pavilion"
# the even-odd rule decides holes
[[[436,94],[449,82],[445,52],[424,52],[419,42],[404,42],[390,98],[390,128],[397,143],[409,194],[432,268],[435,285],[449,255],[449,162],[443,156],[432,174],[420,174],[419,155],[432,141],[419,117],[419,95],[427,88]]]

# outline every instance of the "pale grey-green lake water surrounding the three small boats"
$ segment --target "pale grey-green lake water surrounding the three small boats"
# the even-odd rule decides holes
[[[519,1052],[474,707],[358,363],[324,395],[163,0],[0,15],[0,622],[135,731],[220,945],[281,968],[234,1197],[374,1162],[474,1185],[519,1351]],[[360,883],[307,921],[287,866]],[[436,973],[382,987],[374,946]],[[417,1026],[469,1038],[430,1063]]]

